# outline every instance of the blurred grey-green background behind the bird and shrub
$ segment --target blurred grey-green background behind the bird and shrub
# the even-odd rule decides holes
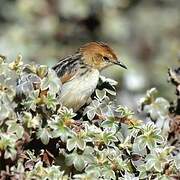
[[[180,0],[0,0],[0,54],[52,66],[89,41],[108,43],[128,71],[103,74],[119,82],[118,102],[137,107],[147,89],[173,99],[168,68],[180,65]]]

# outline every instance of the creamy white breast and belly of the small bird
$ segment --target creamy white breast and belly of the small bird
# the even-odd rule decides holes
[[[63,84],[61,102],[74,111],[79,110],[95,90],[99,80],[99,71],[96,69],[84,70],[77,76]]]

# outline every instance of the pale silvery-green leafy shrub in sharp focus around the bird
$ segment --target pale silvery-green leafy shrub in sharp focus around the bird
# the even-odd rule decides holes
[[[178,179],[180,69],[169,77],[177,100],[152,88],[139,101],[141,120],[117,104],[117,83],[105,77],[75,114],[60,104],[52,69],[1,56],[0,178]]]

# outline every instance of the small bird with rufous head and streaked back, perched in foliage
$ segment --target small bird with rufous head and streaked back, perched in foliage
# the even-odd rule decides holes
[[[63,84],[62,104],[75,112],[79,110],[95,90],[100,71],[112,64],[127,69],[114,51],[102,42],[87,43],[75,54],[61,59],[53,69]]]

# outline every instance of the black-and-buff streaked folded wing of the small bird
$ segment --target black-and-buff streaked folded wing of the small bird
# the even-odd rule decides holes
[[[52,67],[63,84],[72,80],[77,75],[80,69],[80,58],[81,55],[76,53],[72,56],[67,56],[61,59]]]

